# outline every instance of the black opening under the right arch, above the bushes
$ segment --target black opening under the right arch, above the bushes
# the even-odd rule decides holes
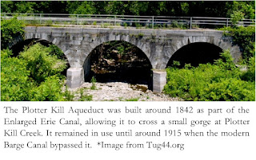
[[[214,60],[220,58],[222,49],[216,45],[206,42],[195,42],[183,46],[174,53],[166,67],[173,64],[174,60],[180,62],[179,68],[183,68],[185,64],[191,64],[197,67],[198,64],[214,63]]]

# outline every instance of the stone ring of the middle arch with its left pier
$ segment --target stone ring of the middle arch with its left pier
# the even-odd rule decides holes
[[[117,33],[97,33],[96,35],[88,34],[83,37],[79,45],[82,47],[69,48],[66,50],[65,55],[70,61],[70,68],[67,71],[67,84],[70,88],[77,88],[85,81],[84,77],[90,72],[90,53],[98,46],[108,41],[126,41],[131,45],[141,49],[150,61],[152,68],[154,65],[150,60],[149,46],[141,42],[140,37],[130,34],[117,34]]]

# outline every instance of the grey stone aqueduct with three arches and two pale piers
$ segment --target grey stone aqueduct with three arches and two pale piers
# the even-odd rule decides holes
[[[150,60],[153,70],[153,91],[162,92],[166,84],[166,64],[170,57],[185,45],[206,42],[221,49],[230,49],[234,61],[241,57],[231,38],[216,30],[156,30],[156,29],[106,29],[72,27],[26,27],[26,39],[41,39],[57,45],[65,53],[70,68],[67,84],[77,88],[90,72],[90,53],[107,41],[127,41],[141,49]]]

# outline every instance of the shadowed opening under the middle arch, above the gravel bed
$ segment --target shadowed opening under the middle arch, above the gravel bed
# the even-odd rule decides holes
[[[85,80],[146,84],[152,88],[152,65],[146,54],[126,41],[107,41],[98,45],[84,62]]]

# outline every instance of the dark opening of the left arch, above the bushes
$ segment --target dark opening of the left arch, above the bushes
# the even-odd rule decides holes
[[[44,45],[46,47],[49,47],[50,45],[54,45],[50,41],[42,40],[39,38],[31,38],[24,41],[18,41],[18,43],[10,47],[13,53],[12,57],[17,57],[18,54],[24,51],[26,47],[30,47],[32,45],[35,45],[36,43],[40,43],[41,45]],[[54,49],[59,49],[57,45],[54,45],[54,47],[55,47]],[[62,49],[59,49],[59,51],[62,52]],[[70,64],[68,63],[68,60],[63,52],[60,56],[58,56],[58,58],[62,60],[66,60],[67,67],[62,71],[62,75],[66,76],[66,70],[70,68]]]

